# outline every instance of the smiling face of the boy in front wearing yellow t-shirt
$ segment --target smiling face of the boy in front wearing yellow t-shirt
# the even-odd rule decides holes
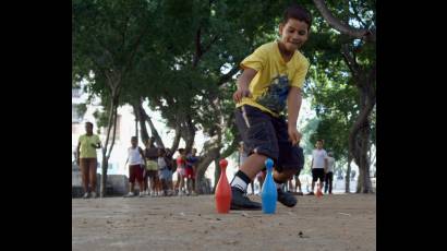
[[[279,35],[288,51],[293,52],[304,45],[309,38],[307,28],[307,23],[295,19],[289,19],[286,24],[279,25]]]

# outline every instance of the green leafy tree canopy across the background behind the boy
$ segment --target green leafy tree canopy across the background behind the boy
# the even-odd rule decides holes
[[[222,129],[224,144],[237,138],[231,95],[235,81],[226,71],[256,47],[276,39],[282,11],[291,1],[73,0],[73,83],[87,80],[86,91],[110,104],[110,75],[121,73],[119,105],[140,98],[159,110],[167,127],[189,115],[208,135]],[[359,113],[358,91],[340,53],[355,50],[358,62],[375,62],[375,45],[340,35],[319,15],[312,1],[300,2],[313,14],[309,41],[302,52],[311,62],[304,96],[312,97],[317,118],[304,128],[305,154],[316,138],[325,139],[336,156],[347,156],[348,132]],[[375,28],[375,1],[330,1],[340,20]],[[372,11],[374,10],[374,11]],[[259,14],[262,13],[262,14]],[[226,72],[225,71],[225,72]],[[233,71],[235,72],[235,71]],[[96,112],[98,124],[107,116]],[[224,122],[224,123],[222,123]],[[375,142],[375,111],[372,121]]]

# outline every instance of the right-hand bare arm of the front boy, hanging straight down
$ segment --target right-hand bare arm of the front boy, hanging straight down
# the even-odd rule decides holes
[[[290,141],[295,145],[300,139],[301,133],[297,130],[298,115],[301,108],[301,89],[297,86],[291,86],[289,89],[289,95],[287,97],[287,109],[288,109],[288,133]]]

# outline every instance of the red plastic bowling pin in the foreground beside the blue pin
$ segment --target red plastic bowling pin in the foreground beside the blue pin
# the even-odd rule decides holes
[[[230,211],[231,203],[231,188],[227,179],[227,165],[226,159],[220,159],[220,178],[216,186],[215,199],[216,199],[216,208],[219,214],[228,214]]]

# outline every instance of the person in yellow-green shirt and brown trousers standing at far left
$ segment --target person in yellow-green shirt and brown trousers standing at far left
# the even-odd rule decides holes
[[[84,135],[77,141],[76,164],[81,168],[84,199],[96,198],[96,168],[98,167],[96,150],[101,147],[98,135],[93,134],[93,123],[85,123]]]

